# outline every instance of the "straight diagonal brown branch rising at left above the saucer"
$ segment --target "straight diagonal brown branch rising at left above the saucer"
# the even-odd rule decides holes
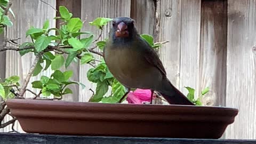
[[[38,54],[36,55],[36,58],[35,58],[35,60],[34,60],[34,63],[33,63],[33,65],[32,65],[32,66],[30,67],[30,69],[29,69],[29,73],[28,73],[28,75],[27,75],[27,77],[26,77],[26,79],[25,79],[25,82],[24,82],[23,85],[21,86],[21,89],[20,89],[20,92],[19,92],[19,96],[20,96],[20,97],[23,97],[23,95],[24,95],[24,93],[25,93],[25,91],[26,91],[26,88],[27,88],[27,86],[28,86],[30,77],[31,77],[32,74],[34,73],[34,70],[35,70],[35,68],[36,68],[37,62],[41,59],[42,55],[43,55],[43,52],[40,52],[40,53],[38,53]]]

